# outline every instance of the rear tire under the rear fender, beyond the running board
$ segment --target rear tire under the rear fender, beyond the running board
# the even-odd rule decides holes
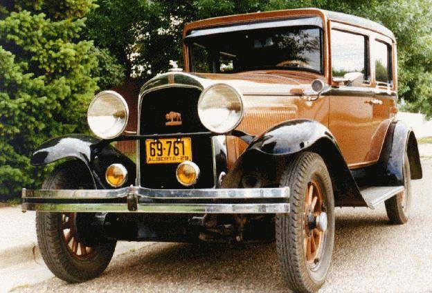
[[[406,153],[402,171],[404,174],[405,190],[385,201],[388,219],[390,223],[397,225],[408,222],[409,209],[411,207],[411,171]]]

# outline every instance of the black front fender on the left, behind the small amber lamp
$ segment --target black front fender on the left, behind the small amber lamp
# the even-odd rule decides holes
[[[40,145],[30,158],[30,164],[40,166],[61,159],[74,159],[82,162],[97,189],[112,189],[105,180],[105,171],[110,164],[123,164],[127,169],[124,186],[134,185],[136,165],[111,147],[106,140],[98,140],[89,135],[74,134],[53,138]],[[71,174],[73,176],[73,174]]]

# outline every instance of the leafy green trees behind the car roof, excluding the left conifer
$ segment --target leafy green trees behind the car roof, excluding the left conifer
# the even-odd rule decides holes
[[[184,24],[246,12],[316,7],[372,19],[398,42],[399,97],[406,108],[432,115],[431,0],[101,0],[89,15],[89,37],[144,82],[181,64]]]

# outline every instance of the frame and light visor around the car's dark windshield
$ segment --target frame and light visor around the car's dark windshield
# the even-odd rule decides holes
[[[202,37],[217,37],[217,35],[223,35],[226,33],[233,32],[253,32],[259,30],[283,30],[284,28],[298,28],[298,29],[313,29],[316,28],[319,31],[319,41],[320,41],[320,52],[319,52],[319,67],[320,70],[316,70],[314,68],[306,68],[306,67],[295,67],[295,66],[257,66],[254,68],[253,66],[238,68],[237,70],[231,71],[221,71],[215,67],[214,64],[213,69],[208,70],[206,73],[224,73],[224,74],[232,74],[232,73],[240,73],[247,71],[255,71],[255,70],[297,70],[297,71],[306,71],[309,73],[317,73],[319,75],[325,75],[325,26],[323,26],[323,21],[321,17],[316,16],[303,16],[303,17],[287,17],[285,19],[266,19],[259,21],[248,21],[248,22],[239,22],[235,24],[231,24],[229,26],[216,26],[210,28],[199,28],[196,30],[190,30],[186,34],[184,38],[184,47],[185,47],[185,61],[187,62],[188,71],[191,73],[205,73],[201,71],[195,70],[195,62],[194,62],[194,40],[201,39]],[[217,51],[217,50],[215,50]],[[210,52],[209,52],[210,53]],[[213,60],[217,59],[219,53],[216,53],[215,56],[211,57]]]

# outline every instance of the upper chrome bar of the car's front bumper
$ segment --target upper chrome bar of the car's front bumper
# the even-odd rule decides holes
[[[34,199],[110,199],[126,198],[130,193],[152,199],[247,199],[289,198],[289,187],[251,189],[23,189],[22,198]]]

